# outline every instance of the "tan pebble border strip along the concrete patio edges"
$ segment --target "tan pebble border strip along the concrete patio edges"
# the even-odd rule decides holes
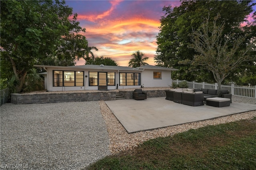
[[[256,104],[256,99],[232,96],[232,102]],[[174,135],[176,133],[187,131],[191,128],[196,129],[205,127],[207,125],[218,125],[222,123],[234,122],[241,119],[252,119],[253,117],[256,117],[256,111],[249,111],[246,113],[229,115],[212,120],[198,121],[128,134],[104,101],[100,101],[100,109],[108,128],[108,133],[110,136],[110,150],[112,154],[119,153],[123,150],[133,149],[146,140]]]

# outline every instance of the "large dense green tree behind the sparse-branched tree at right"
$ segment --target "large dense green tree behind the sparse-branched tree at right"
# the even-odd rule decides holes
[[[180,65],[179,61],[192,59],[197,52],[189,48],[192,43],[190,34],[192,30],[197,30],[204,18],[209,22],[214,21],[214,17],[219,13],[221,18],[217,21],[220,25],[225,21],[223,34],[236,33],[236,35],[245,35],[246,41],[255,36],[252,31],[251,22],[248,22],[248,15],[253,11],[252,1],[187,1],[183,0],[178,7],[164,7],[166,12],[160,22],[160,33],[158,34],[157,50],[154,59],[156,63],[164,67],[174,67],[179,69],[174,79],[186,79],[188,81],[214,81],[214,76],[201,65]],[[240,24],[247,22],[246,29],[241,29]],[[192,29],[193,28],[193,29]]]

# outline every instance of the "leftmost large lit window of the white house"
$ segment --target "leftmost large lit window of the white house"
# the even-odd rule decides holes
[[[84,86],[84,71],[53,71],[53,86]]]

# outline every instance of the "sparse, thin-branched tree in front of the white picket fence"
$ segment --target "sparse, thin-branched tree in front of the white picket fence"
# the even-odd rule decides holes
[[[236,34],[224,34],[225,22],[217,26],[220,15],[216,16],[212,26],[209,17],[203,22],[198,30],[193,30],[191,37],[192,43],[189,45],[198,54],[194,55],[193,60],[184,60],[179,63],[191,63],[201,65],[211,71],[214,79],[221,89],[222,81],[236,69],[243,61],[255,59],[248,55],[248,51],[253,51],[255,44],[248,43],[243,46],[246,37]],[[240,48],[242,46],[242,48]]]

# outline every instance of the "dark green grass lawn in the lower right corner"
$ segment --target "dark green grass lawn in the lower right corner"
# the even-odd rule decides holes
[[[148,140],[107,156],[89,170],[253,170],[256,117]]]

